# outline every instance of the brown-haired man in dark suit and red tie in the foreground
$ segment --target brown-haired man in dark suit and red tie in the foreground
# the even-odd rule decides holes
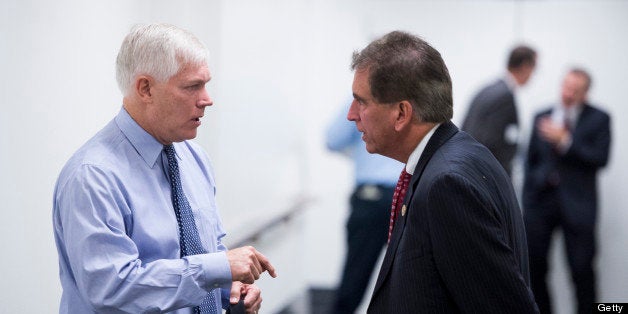
[[[512,185],[450,121],[451,79],[438,51],[396,31],[356,52],[352,68],[347,118],[368,152],[406,164],[368,312],[537,312]]]

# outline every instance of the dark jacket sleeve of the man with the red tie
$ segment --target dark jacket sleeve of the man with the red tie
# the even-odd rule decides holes
[[[486,192],[461,175],[435,179],[429,228],[438,272],[463,312],[535,313],[505,218]]]

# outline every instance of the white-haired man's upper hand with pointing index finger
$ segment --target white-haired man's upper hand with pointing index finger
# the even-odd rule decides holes
[[[252,246],[227,251],[227,259],[231,267],[232,281],[252,284],[264,271],[268,271],[273,278],[277,277],[275,267],[266,256]]]

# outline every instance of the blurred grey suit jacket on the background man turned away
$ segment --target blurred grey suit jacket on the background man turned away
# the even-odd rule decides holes
[[[509,126],[519,127],[515,97],[504,80],[484,87],[473,98],[462,130],[484,144],[499,163],[512,173],[512,159],[517,143],[504,136]]]

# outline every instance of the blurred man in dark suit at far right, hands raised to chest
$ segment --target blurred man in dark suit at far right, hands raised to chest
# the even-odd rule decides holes
[[[570,70],[562,101],[535,118],[528,149],[523,206],[528,231],[532,290],[543,313],[551,313],[547,255],[552,233],[562,228],[576,287],[578,312],[595,302],[596,176],[608,162],[610,117],[587,102],[590,75]]]

